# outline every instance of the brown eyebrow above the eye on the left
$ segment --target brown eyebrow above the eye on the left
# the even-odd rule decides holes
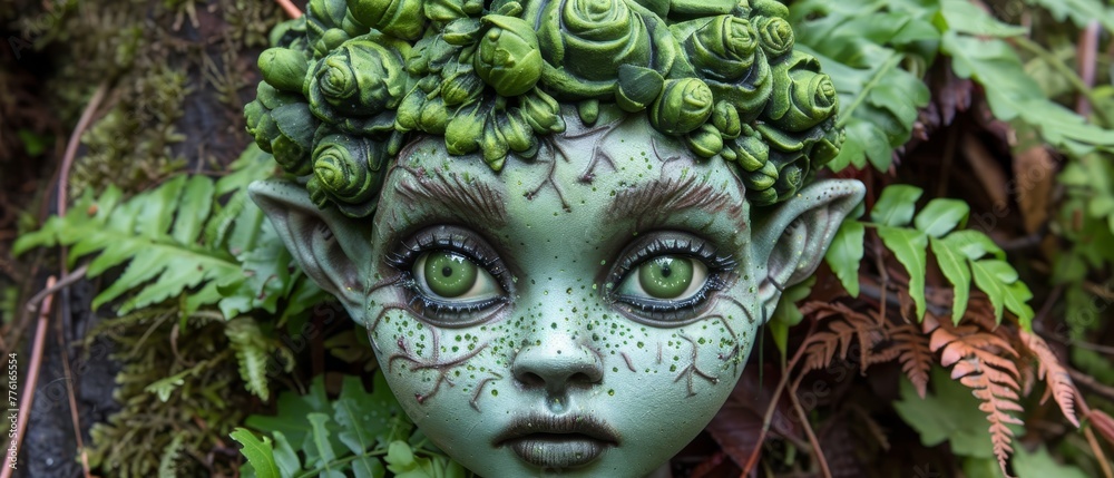
[[[409,177],[398,182],[395,193],[412,204],[428,205],[450,211],[480,224],[504,226],[507,224],[507,207],[502,195],[479,178],[461,178],[458,174],[446,174],[440,168],[411,168],[399,166]]]

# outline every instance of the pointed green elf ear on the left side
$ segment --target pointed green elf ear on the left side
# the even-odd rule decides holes
[[[305,274],[350,311],[363,306],[361,265],[371,264],[371,220],[321,209],[296,183],[257,181],[247,191]]]

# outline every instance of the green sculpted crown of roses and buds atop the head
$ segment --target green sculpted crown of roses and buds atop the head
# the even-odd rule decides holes
[[[793,195],[839,153],[838,100],[775,0],[311,0],[272,32],[247,129],[310,197],[362,217],[411,134],[499,170],[600,106],[645,110],[746,197]],[[417,137],[417,136],[416,136]]]

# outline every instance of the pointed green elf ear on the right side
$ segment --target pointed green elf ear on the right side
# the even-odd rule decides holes
[[[754,220],[752,257],[766,265],[766,276],[759,285],[764,316],[773,315],[786,287],[812,275],[839,225],[864,194],[866,187],[858,181],[818,181]]]

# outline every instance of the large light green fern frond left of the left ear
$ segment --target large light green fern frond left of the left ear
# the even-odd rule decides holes
[[[120,203],[121,193],[110,186],[100,198],[85,196],[66,216],[51,217],[41,231],[21,237],[16,250],[63,244],[71,246],[71,262],[97,253],[89,263],[90,277],[128,263],[92,301],[98,308],[125,292],[138,292],[119,308],[121,315],[195,287],[199,289],[188,293],[188,302],[212,304],[221,295],[203,285],[241,274],[229,254],[197,244],[212,211],[213,191],[207,177],[178,176]]]

